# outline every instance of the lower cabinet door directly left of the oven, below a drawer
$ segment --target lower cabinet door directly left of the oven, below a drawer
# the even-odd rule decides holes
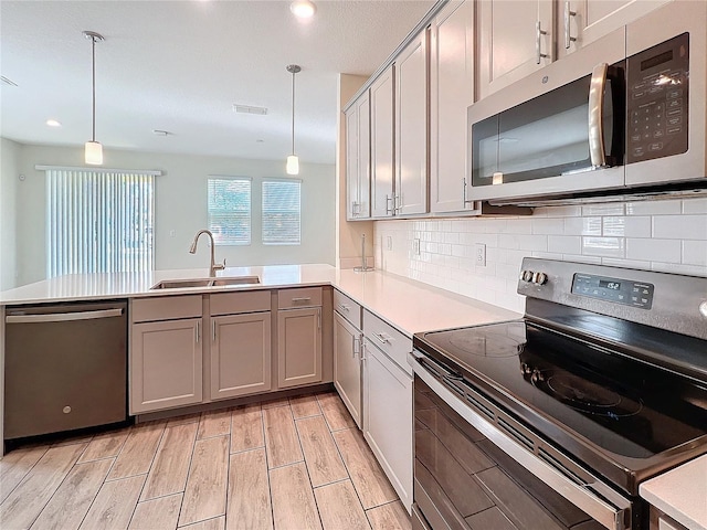
[[[412,505],[412,377],[365,340],[363,436],[410,512]]]

